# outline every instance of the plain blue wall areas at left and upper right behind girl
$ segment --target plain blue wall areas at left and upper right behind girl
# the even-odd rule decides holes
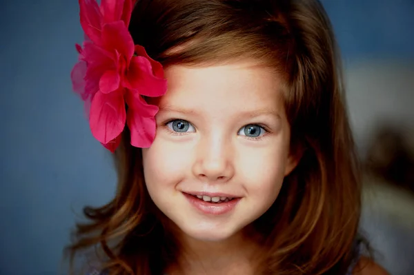
[[[324,2],[346,64],[414,60],[413,1]],[[78,3],[3,0],[0,31],[0,274],[56,274],[74,211],[115,187],[71,90]]]

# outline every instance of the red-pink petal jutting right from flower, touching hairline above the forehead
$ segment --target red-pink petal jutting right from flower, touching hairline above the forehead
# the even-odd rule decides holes
[[[127,73],[129,88],[144,96],[162,96],[167,90],[166,79],[156,77],[146,57],[132,57]]]

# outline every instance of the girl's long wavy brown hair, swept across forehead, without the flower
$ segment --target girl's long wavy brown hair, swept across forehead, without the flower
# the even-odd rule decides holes
[[[331,23],[317,0],[140,0],[130,33],[164,66],[255,59],[286,80],[291,150],[302,156],[270,210],[258,274],[345,274],[360,213],[359,167]],[[128,129],[115,159],[119,187],[68,251],[98,247],[109,274],[161,274],[179,247],[152,203]]]

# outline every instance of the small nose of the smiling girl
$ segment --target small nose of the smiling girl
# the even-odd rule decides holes
[[[219,136],[201,139],[195,149],[193,174],[208,183],[227,182],[235,174],[232,145]]]

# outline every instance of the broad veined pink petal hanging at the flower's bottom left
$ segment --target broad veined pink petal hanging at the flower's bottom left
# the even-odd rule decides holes
[[[90,105],[90,130],[95,139],[106,144],[124,130],[126,110],[123,91],[97,92]]]

